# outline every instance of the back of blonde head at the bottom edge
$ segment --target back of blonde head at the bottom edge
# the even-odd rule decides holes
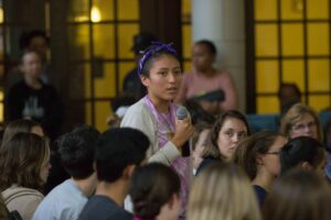
[[[249,179],[232,163],[210,164],[196,177],[189,197],[188,220],[259,220]]]

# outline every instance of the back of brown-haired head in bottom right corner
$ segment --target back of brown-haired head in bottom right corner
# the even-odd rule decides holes
[[[276,180],[263,208],[267,220],[329,220],[331,191],[311,170],[292,169]]]

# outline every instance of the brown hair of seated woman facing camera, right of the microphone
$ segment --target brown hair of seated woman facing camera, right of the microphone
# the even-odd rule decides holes
[[[221,152],[218,150],[218,146],[217,146],[217,140],[218,140],[220,131],[223,128],[223,124],[227,119],[241,120],[247,129],[247,135],[250,134],[249,125],[248,125],[247,119],[244,114],[242,114],[239,111],[236,111],[236,110],[228,110],[228,111],[223,112],[218,117],[218,119],[215,121],[215,123],[212,128],[212,131],[207,139],[206,147],[202,152],[203,158],[206,158],[206,157],[220,158],[222,156]]]

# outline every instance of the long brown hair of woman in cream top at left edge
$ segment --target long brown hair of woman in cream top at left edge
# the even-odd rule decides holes
[[[0,148],[0,190],[17,184],[41,189],[41,169],[50,157],[47,142],[32,133],[18,133]]]

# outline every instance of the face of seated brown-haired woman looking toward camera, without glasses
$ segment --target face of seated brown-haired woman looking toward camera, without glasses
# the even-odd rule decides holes
[[[236,118],[225,119],[217,139],[217,146],[221,155],[229,160],[234,154],[238,142],[246,136],[247,128],[242,120]]]

